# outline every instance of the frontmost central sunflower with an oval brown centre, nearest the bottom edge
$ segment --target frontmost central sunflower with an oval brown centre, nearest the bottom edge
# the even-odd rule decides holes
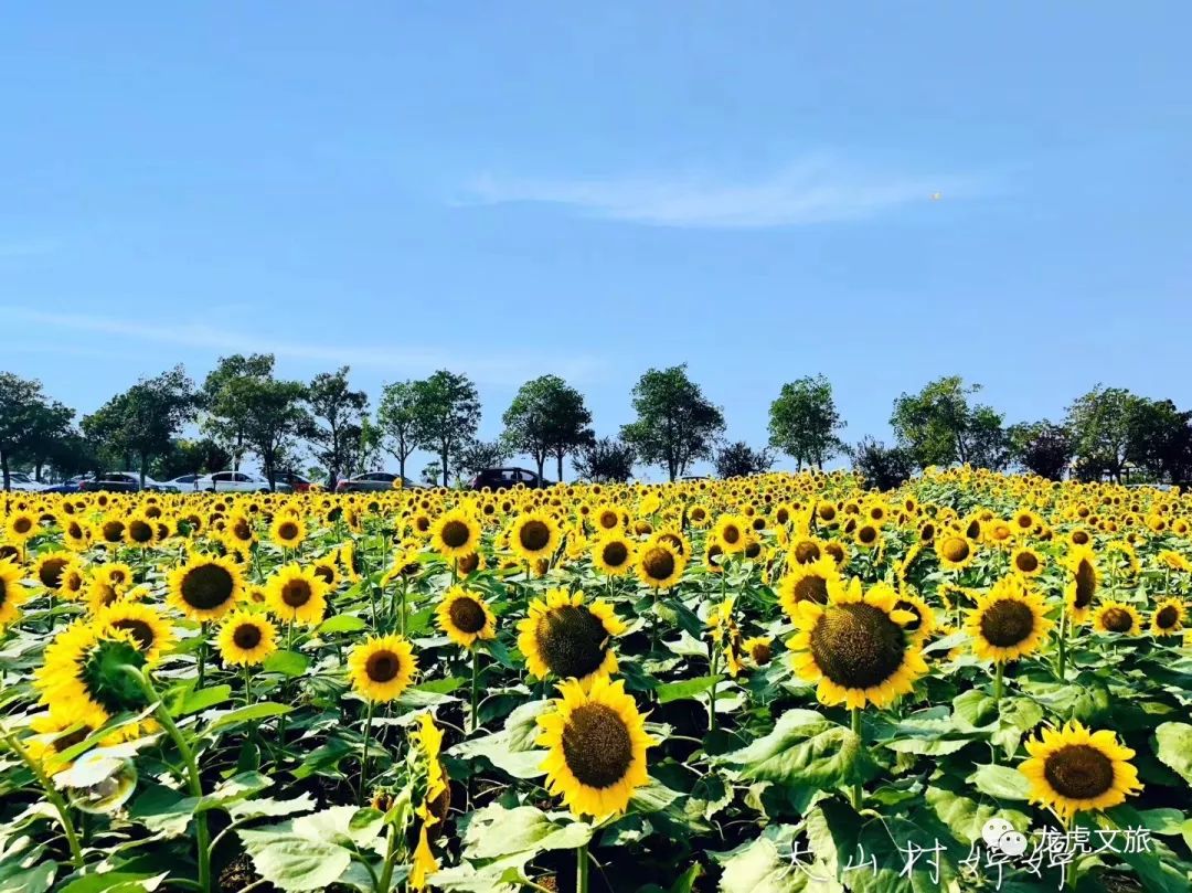
[[[650,781],[645,718],[625,682],[596,680],[591,688],[571,680],[559,684],[554,709],[540,715],[536,744],[547,748],[547,790],[576,816],[625,812],[634,789]]]

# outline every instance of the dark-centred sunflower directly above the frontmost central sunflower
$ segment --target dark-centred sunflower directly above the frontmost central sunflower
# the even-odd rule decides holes
[[[529,615],[517,624],[517,647],[532,676],[577,678],[584,686],[597,676],[616,672],[616,655],[609,640],[626,630],[613,607],[583,593],[550,589],[530,602]]]

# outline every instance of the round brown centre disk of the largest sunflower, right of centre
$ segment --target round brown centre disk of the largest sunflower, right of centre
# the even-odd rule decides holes
[[[844,688],[880,686],[902,665],[902,627],[881,608],[862,602],[824,612],[811,635],[820,671]]]

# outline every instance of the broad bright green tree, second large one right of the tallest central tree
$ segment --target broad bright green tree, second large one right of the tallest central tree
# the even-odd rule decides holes
[[[981,385],[966,387],[960,376],[948,376],[894,401],[890,426],[919,467],[952,463],[1005,467],[1008,451],[1001,414],[969,404],[980,390]]]

